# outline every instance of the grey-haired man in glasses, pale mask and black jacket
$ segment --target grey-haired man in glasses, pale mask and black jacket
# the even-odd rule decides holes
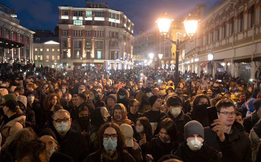
[[[72,130],[72,118],[70,113],[64,109],[54,114],[54,131],[60,152],[72,157],[75,162],[82,162],[88,155],[87,141],[81,133]]]

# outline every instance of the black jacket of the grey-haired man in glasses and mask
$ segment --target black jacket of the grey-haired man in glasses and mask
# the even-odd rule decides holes
[[[88,155],[87,140],[81,133],[71,128],[64,137],[61,137],[57,130],[54,131],[57,142],[60,145],[60,152],[72,157],[74,162],[82,162]]]

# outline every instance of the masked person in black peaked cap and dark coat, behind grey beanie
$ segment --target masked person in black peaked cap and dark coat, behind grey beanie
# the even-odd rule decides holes
[[[181,110],[183,107],[183,102],[179,96],[169,96],[166,100],[166,106],[168,109],[167,115],[161,118],[158,125],[163,119],[172,119],[177,126],[177,130],[179,131],[179,142],[182,143],[184,142],[184,126],[186,123],[191,121],[191,118],[187,114],[184,114]],[[159,129],[157,126],[154,135],[157,135],[158,133]]]

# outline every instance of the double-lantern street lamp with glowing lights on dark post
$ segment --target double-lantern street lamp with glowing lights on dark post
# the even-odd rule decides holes
[[[169,32],[171,22],[174,19],[170,19],[169,16],[167,16],[167,13],[164,12],[163,15],[156,21],[158,23],[160,34],[162,35],[162,40],[168,39],[171,43],[176,45],[176,62],[175,62],[175,89],[178,87],[178,65],[179,65],[179,48],[180,48],[180,32],[177,32],[177,39],[176,41],[173,41],[166,37],[167,33]],[[186,17],[185,21],[183,21],[183,24],[186,29],[186,33],[190,38],[190,41],[192,41],[192,36],[195,34],[197,25],[198,25],[198,19],[196,17],[192,17],[189,15]]]

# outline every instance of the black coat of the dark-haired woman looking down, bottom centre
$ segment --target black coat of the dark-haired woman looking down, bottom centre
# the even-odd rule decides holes
[[[162,142],[160,137],[158,136],[157,138],[154,138],[149,142],[149,147],[147,148],[145,155],[152,155],[154,161],[158,161],[162,156],[170,154],[173,149],[178,147],[178,141],[170,140],[169,143]],[[143,158],[143,161],[146,161],[145,157]]]

